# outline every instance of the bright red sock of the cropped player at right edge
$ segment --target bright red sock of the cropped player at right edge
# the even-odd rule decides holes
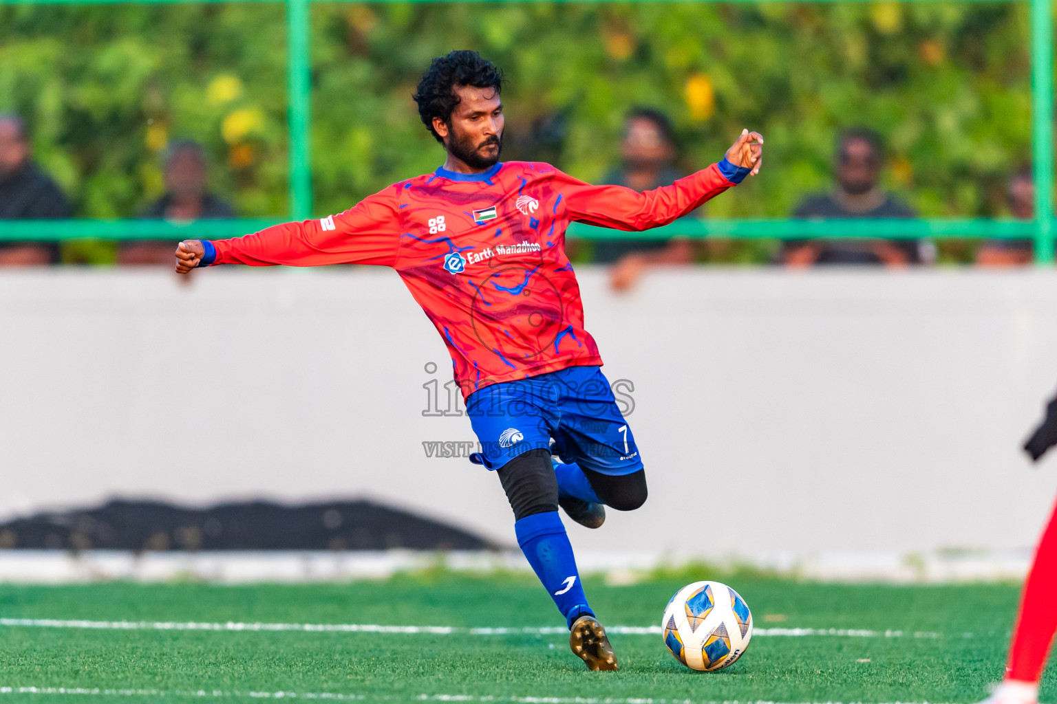
[[[1032,571],[1024,583],[1020,614],[1013,632],[1006,681],[1037,684],[1057,631],[1057,507],[1042,533]]]

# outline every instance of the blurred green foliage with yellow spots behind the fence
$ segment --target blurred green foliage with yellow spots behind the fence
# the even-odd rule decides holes
[[[597,178],[624,113],[657,107],[687,170],[761,131],[765,174],[708,214],[782,216],[828,187],[836,131],[866,125],[923,215],[1000,215],[1030,157],[1027,19],[1017,2],[314,3],[315,210],[441,163],[410,94],[431,57],[469,47],[508,78],[505,158]],[[284,47],[281,3],[0,6],[0,111],[27,118],[80,216],[157,197],[182,136],[240,214],[282,216]]]

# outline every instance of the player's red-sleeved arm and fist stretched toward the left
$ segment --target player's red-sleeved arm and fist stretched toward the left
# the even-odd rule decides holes
[[[393,266],[398,250],[398,205],[390,187],[337,215],[283,223],[244,237],[185,240],[175,255],[177,272],[187,273],[214,264]]]

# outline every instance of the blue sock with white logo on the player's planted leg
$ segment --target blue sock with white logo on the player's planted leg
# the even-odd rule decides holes
[[[572,628],[573,622],[586,613],[594,615],[580,586],[573,546],[569,543],[558,512],[525,516],[514,524],[514,532],[521,552],[528,558],[536,576],[543,583],[543,588],[551,594],[569,627]]]

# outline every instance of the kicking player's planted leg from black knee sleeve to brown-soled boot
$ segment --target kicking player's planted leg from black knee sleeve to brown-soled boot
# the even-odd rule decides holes
[[[570,647],[592,670],[617,669],[616,655],[588,605],[573,546],[558,517],[558,482],[545,449],[518,455],[497,470],[514,509],[518,546],[570,628]]]

